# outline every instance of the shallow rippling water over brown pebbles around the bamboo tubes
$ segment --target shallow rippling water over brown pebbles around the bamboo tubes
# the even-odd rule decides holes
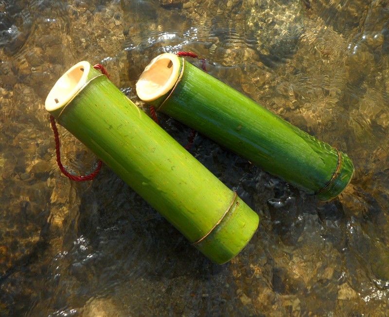
[[[385,316],[388,20],[385,0],[1,0],[0,315]],[[179,50],[355,165],[344,193],[320,203],[196,135],[191,153],[261,219],[224,265],[109,168],[88,184],[63,177],[44,110],[84,59],[144,106],[132,89],[141,71]],[[159,119],[187,144],[189,129]],[[93,154],[60,132],[67,168],[93,170]]]

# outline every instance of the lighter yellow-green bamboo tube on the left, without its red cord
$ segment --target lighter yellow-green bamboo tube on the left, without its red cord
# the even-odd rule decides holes
[[[250,240],[258,215],[88,62],[56,82],[45,106],[212,261]]]

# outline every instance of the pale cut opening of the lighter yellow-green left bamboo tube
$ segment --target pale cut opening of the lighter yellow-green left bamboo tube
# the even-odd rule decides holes
[[[65,106],[75,93],[87,82],[90,64],[82,61],[71,67],[62,75],[45,101],[45,108],[48,112],[53,112]]]

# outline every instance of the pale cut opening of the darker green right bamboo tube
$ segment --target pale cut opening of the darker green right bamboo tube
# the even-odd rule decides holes
[[[136,83],[139,98],[148,102],[168,93],[177,82],[180,67],[179,58],[174,54],[165,53],[154,58]]]

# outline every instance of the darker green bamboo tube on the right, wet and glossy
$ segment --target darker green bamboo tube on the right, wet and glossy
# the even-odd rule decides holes
[[[288,183],[335,198],[354,166],[330,145],[261,107],[173,54],[154,58],[136,84],[138,96]]]

